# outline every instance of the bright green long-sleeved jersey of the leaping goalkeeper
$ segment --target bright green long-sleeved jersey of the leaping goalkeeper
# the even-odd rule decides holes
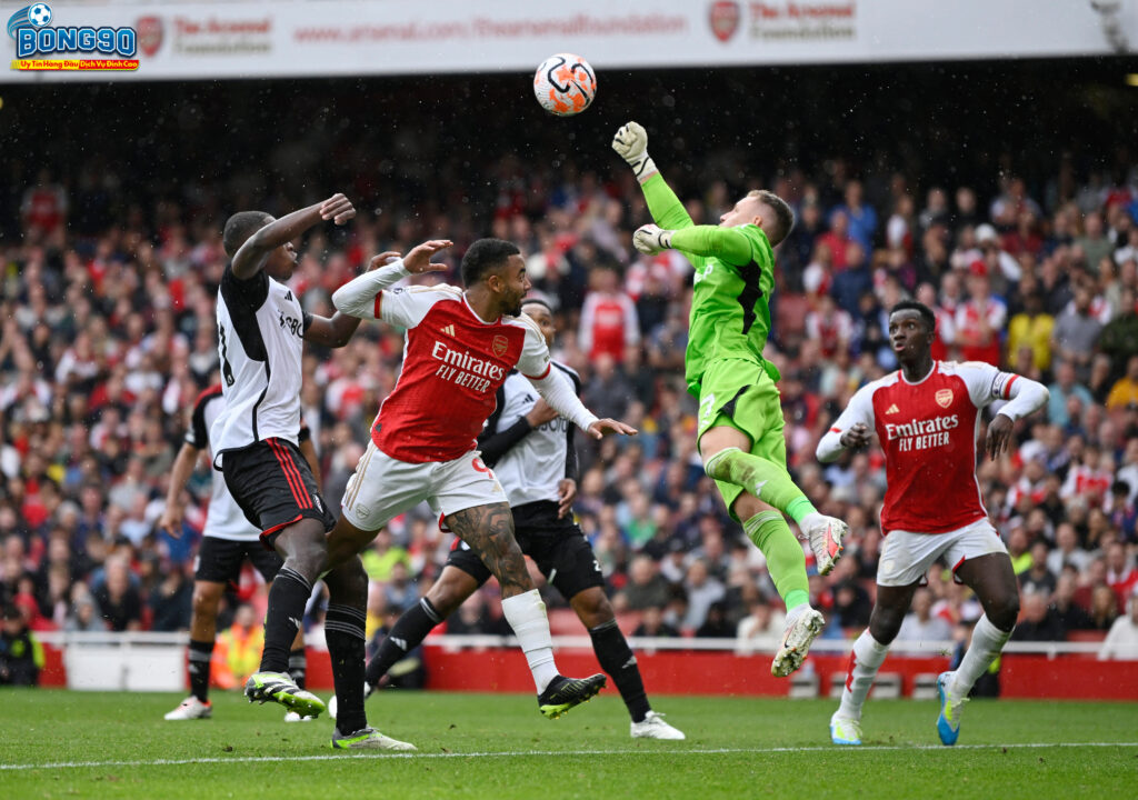
[[[775,282],[767,234],[757,225],[693,224],[659,173],[644,182],[643,190],[655,224],[676,231],[671,247],[695,267],[684,355],[687,390],[699,397],[703,372],[717,358],[754,362],[778,380],[774,364],[762,357],[770,332],[767,300]]]

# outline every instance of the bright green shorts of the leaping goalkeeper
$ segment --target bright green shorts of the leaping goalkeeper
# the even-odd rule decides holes
[[[762,364],[744,358],[718,358],[708,364],[700,381],[698,438],[710,428],[731,426],[751,439],[751,455],[786,467],[786,439],[783,438],[782,401],[778,387]],[[742,486],[715,481],[732,517],[732,503],[743,494]]]

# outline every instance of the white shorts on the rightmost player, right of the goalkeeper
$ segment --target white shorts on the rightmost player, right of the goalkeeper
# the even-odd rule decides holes
[[[877,562],[879,586],[909,586],[924,577],[941,559],[956,574],[968,559],[989,553],[1007,554],[996,528],[987,519],[976,520],[947,534],[915,534],[890,530]]]

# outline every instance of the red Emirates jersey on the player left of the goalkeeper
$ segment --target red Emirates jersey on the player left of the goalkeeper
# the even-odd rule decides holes
[[[407,329],[399,377],[371,429],[376,446],[399,461],[469,453],[510,371],[550,372],[545,339],[528,316],[486,322],[452,286],[381,291],[376,319]]]

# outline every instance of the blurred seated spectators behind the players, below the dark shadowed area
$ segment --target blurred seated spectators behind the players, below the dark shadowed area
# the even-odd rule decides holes
[[[851,529],[834,572],[811,577],[827,635],[868,620],[884,472],[873,448],[823,465],[815,446],[859,386],[896,369],[887,310],[905,297],[937,313],[934,357],[986,361],[1050,389],[1046,413],[1017,423],[1011,454],[979,468],[1021,579],[1015,638],[1127,622],[1128,603],[1138,604],[1138,170],[1079,174],[1063,159],[1050,174],[925,185],[891,168],[826,167],[759,176],[768,183],[718,181],[696,197],[684,191],[698,185],[688,173],[665,165],[665,174],[691,198],[696,222],[717,221],[759,185],[795,208],[777,251],[767,356],[783,374],[792,472]],[[184,629],[208,498],[204,463],[181,535],[156,521],[189,410],[217,381],[221,228],[229,211],[290,205],[217,181],[143,209],[129,181],[98,165],[66,182],[48,171],[17,176],[3,191],[19,234],[0,240],[0,605],[34,630]],[[481,213],[426,172],[407,173],[414,199],[403,207],[377,200],[363,179],[321,185],[314,191],[354,191],[357,205],[386,211],[343,232],[318,229],[299,248],[292,288],[306,310],[328,313],[331,292],[374,253],[446,236],[456,267],[479,236],[518,242],[535,292],[556,308],[554,356],[582,374],[599,415],[641,430],[599,445],[577,438],[575,511],[616,607],[638,635],[767,648],[782,630],[777,595],[695,451],[695,405],[683,383],[691,269],[674,251],[637,257],[630,233],[649,217],[632,180],[617,165],[535,171],[505,157],[473,180],[493,188]],[[457,282],[456,269],[444,280]],[[380,324],[343,349],[306,348],[302,399],[329,498],[340,497],[363,453],[401,354],[402,332]],[[450,544],[426,509],[377,537],[364,558],[372,627],[417,601]],[[251,571],[234,591],[229,617],[261,594]],[[502,630],[498,603],[495,589],[479,592],[448,629]],[[934,570],[906,625],[943,640],[979,613]],[[310,622],[319,619],[318,603]]]

